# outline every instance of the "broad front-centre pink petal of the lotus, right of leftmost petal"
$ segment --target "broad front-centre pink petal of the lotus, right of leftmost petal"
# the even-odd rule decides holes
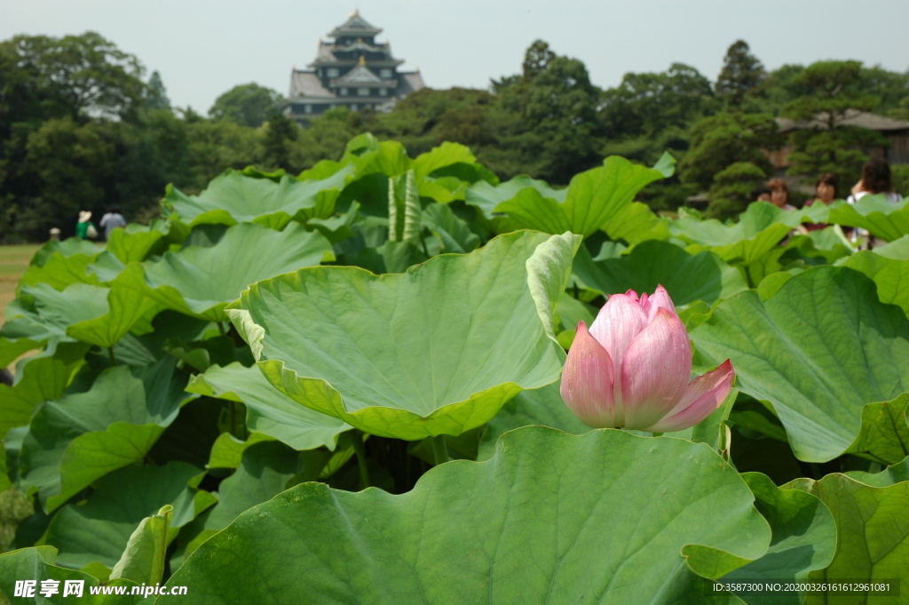
[[[658,308],[622,362],[625,429],[644,429],[679,403],[691,377],[691,343],[682,320]]]

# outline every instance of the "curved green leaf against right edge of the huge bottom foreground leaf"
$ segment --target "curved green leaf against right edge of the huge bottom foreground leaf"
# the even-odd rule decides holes
[[[725,575],[723,580],[794,582],[807,580],[810,572],[830,565],[836,550],[836,523],[830,509],[804,491],[777,488],[761,473],[744,473],[742,479],[754,493],[754,506],[770,523],[774,538],[763,557]],[[798,592],[739,596],[749,605],[800,605],[804,599]]]

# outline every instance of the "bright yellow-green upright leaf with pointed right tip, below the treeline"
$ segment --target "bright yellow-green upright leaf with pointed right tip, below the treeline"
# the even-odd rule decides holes
[[[571,231],[591,236],[626,209],[646,185],[672,175],[674,162],[666,157],[670,156],[664,156],[653,168],[635,166],[624,157],[607,157],[604,166],[571,179],[564,201],[546,196],[535,187],[524,187],[514,197],[497,204],[493,212],[508,215],[509,229]]]

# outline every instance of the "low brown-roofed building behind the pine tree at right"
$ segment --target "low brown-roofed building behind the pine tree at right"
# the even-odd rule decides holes
[[[776,124],[780,126],[780,134],[788,134],[794,130],[804,130],[814,128],[824,130],[827,128],[825,116],[818,115],[814,120],[796,122],[787,117],[777,117]],[[837,125],[854,126],[856,128],[868,128],[876,130],[890,139],[889,147],[877,147],[874,149],[865,149],[873,156],[887,160],[890,164],[909,164],[909,122],[894,120],[889,117],[870,114],[857,109],[847,109]],[[789,165],[789,154],[793,152],[793,145],[789,143],[782,149],[776,151],[764,151],[764,154],[770,158],[778,172],[784,171]]]

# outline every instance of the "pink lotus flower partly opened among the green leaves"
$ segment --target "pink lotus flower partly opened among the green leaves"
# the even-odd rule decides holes
[[[662,286],[609,297],[590,330],[578,324],[562,374],[562,398],[595,429],[687,429],[723,404],[735,372],[729,359],[691,378],[691,343]]]

